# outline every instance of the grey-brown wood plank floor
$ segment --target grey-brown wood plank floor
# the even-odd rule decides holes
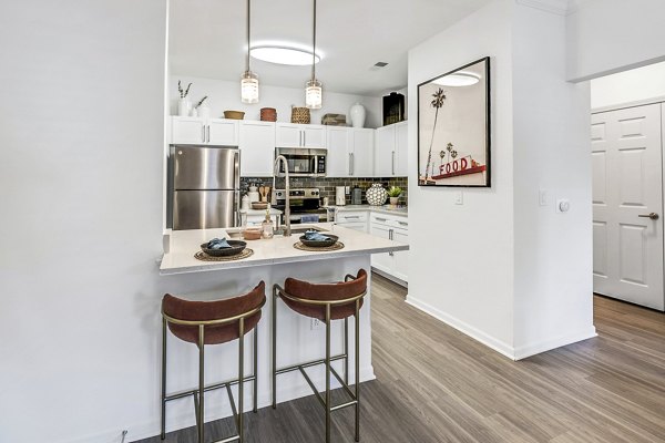
[[[595,297],[600,337],[512,362],[372,280],[377,380],[362,384],[361,442],[665,442],[665,315]],[[332,414],[334,442],[354,441],[352,419],[351,409]],[[314,396],[246,422],[249,443],[324,441]],[[231,425],[207,424],[206,440]],[[166,439],[195,441],[194,429]]]

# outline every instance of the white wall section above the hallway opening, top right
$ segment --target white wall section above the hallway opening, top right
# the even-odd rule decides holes
[[[665,60],[665,1],[581,3],[566,20],[569,80],[587,80]]]

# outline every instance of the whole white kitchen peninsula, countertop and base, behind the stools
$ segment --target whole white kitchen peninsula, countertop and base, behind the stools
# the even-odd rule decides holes
[[[306,251],[294,247],[298,241],[301,231],[314,227],[321,230],[323,234],[329,233],[339,237],[339,241],[344,243],[342,249],[332,251]],[[182,274],[200,272],[202,275],[201,282],[197,284],[192,292],[181,293],[181,296],[190,299],[212,300],[224,297],[232,297],[247,292],[260,280],[266,282],[267,302],[264,307],[263,318],[258,324],[258,405],[259,408],[267,406],[270,403],[270,310],[273,297],[270,290],[274,284],[284,285],[287,277],[294,277],[313,282],[329,282],[341,281],[347,274],[356,275],[360,268],[370,270],[371,254],[390,253],[408,250],[409,246],[402,243],[393,241],[386,238],[380,238],[358,230],[349,229],[339,225],[321,223],[311,225],[297,225],[294,228],[290,237],[275,236],[272,239],[260,239],[247,241],[247,248],[250,248],[254,254],[247,258],[235,261],[201,261],[194,258],[194,255],[201,250],[200,245],[214,237],[237,237],[237,228],[229,229],[202,229],[202,230],[180,230],[172,231],[167,241],[166,251],[162,258],[160,272],[165,279],[174,279],[176,281]],[[370,276],[368,276],[371,278]],[[368,297],[365,299],[365,306],[360,311],[360,380],[368,381],[375,378],[374,368],[371,364],[371,328],[370,328],[370,303],[371,295],[369,293],[370,285],[368,284]],[[277,305],[278,315],[282,319],[278,323],[278,357],[277,364],[279,367],[289,363],[309,361],[320,359],[324,356],[325,328],[313,321],[309,318],[299,316],[287,309],[283,303]],[[332,352],[339,352],[342,349],[342,327],[344,322],[332,322]],[[190,365],[192,361],[191,349],[187,349],[186,343],[180,343],[177,339],[168,337],[170,347],[173,347],[174,359],[180,359],[178,356],[186,354],[183,362],[187,362],[186,367],[182,368],[184,372],[178,379],[183,381],[182,385],[170,387],[174,390],[191,388],[187,385],[187,380],[195,379],[196,368]],[[354,340],[354,328],[349,328],[349,340]],[[252,351],[250,340],[246,338],[247,352]],[[222,353],[223,361],[235,361],[236,350],[233,346],[216,347],[215,352]],[[218,356],[218,354],[217,354]],[[216,359],[217,357],[215,357]],[[217,361],[217,360],[215,360]],[[350,367],[354,368],[355,356],[350,352]],[[341,364],[337,362],[336,364]],[[214,378],[217,380],[226,380],[236,377],[234,364],[225,364],[215,369]],[[316,369],[311,370],[311,379],[316,385],[323,387],[324,372]],[[355,374],[349,374],[352,382]],[[334,388],[337,388],[334,383]],[[246,390],[249,391],[249,390]],[[284,375],[284,380],[277,387],[278,402],[285,402],[296,398],[311,395],[311,391],[305,379],[297,373]],[[218,398],[213,396],[208,411],[214,411],[216,418],[229,416],[232,414],[228,402],[215,403]],[[247,392],[246,403],[250,405],[250,396]],[[186,402],[183,402],[186,403]],[[186,406],[186,405],[185,405]],[[190,410],[183,406],[181,411],[183,415],[192,415]],[[170,408],[176,409],[175,403]],[[177,414],[177,413],[176,413]],[[206,419],[207,420],[207,419]],[[184,427],[188,422],[175,425],[175,427]]]

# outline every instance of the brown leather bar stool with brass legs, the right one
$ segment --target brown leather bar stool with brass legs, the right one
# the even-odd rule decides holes
[[[360,441],[360,308],[364,297],[367,293],[367,272],[360,269],[356,277],[347,275],[344,282],[338,284],[310,284],[307,281],[287,278],[284,288],[279,285],[273,286],[273,408],[277,408],[277,375],[290,371],[300,371],[307,384],[311,388],[315,395],[326,411],[326,442],[330,442],[330,413],[344,408],[356,408],[356,441]],[[303,316],[316,318],[326,323],[326,358],[323,360],[309,361],[277,368],[277,299],[284,300],[286,306]],[[356,317],[356,383],[351,391],[349,388],[349,338],[348,338],[348,318]],[[330,322],[332,320],[344,319],[344,353],[330,356]],[[344,360],[345,372],[344,380],[335,368],[330,365],[332,361]],[[326,365],[326,394],[325,399],[314,385],[305,368],[317,364]],[[335,375],[350,401],[331,405],[330,404],[330,374]]]

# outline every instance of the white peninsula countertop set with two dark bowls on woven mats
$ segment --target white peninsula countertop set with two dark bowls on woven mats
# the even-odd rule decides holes
[[[175,230],[171,233],[168,239],[168,251],[162,257],[160,274],[202,272],[409,249],[409,245],[407,244],[376,237],[338,225],[332,226],[328,223],[297,225],[293,227],[301,228],[308,226],[315,226],[325,229],[325,233],[338,236],[339,241],[345,245],[344,249],[320,253],[296,249],[294,248],[294,244],[298,241],[298,237],[301,234],[293,234],[290,237],[276,236],[272,239],[247,240],[247,247],[254,250],[254,255],[242,260],[201,261],[194,258],[194,254],[201,250],[201,244],[215,237],[228,238],[226,229]]]

